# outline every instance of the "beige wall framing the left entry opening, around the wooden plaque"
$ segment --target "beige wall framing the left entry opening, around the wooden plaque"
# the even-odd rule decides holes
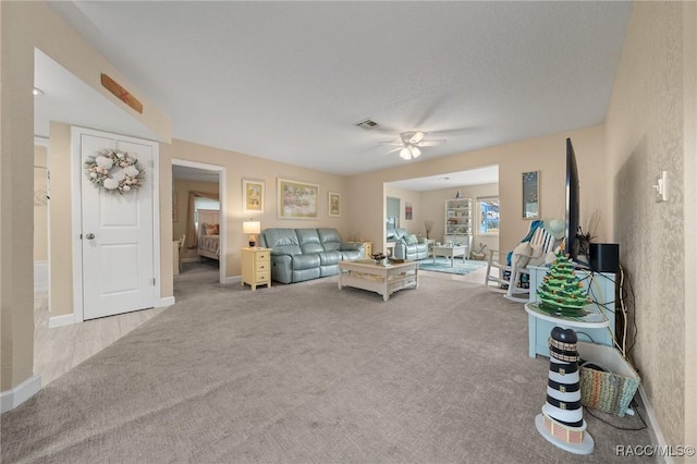
[[[27,180],[33,179],[34,160],[34,49],[130,112],[161,141],[170,139],[170,123],[45,3],[0,2],[0,389],[7,391],[33,374],[34,240],[27,231],[33,230],[34,188]],[[132,89],[144,103],[143,114],[101,87],[102,72]]]

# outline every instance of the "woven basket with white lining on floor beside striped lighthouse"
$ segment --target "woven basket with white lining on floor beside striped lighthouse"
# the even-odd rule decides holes
[[[584,406],[624,417],[639,388],[639,376],[610,346],[578,342],[578,354],[585,361],[609,369],[609,373],[582,367],[580,400]]]

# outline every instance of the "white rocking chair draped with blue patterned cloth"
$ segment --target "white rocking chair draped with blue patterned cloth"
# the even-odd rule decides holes
[[[489,251],[485,285],[489,286],[489,282],[494,282],[497,290],[505,293],[505,298],[526,303],[530,292],[525,286],[530,276],[527,266],[543,264],[546,256],[561,245],[563,234],[561,236],[562,239],[558,239],[552,235],[545,228],[543,221],[533,221],[527,235],[515,249],[505,256],[501,256],[498,249]],[[492,270],[494,273],[491,273]]]

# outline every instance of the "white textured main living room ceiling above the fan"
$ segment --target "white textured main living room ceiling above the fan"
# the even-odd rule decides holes
[[[601,123],[631,2],[52,2],[175,138],[326,172]],[[366,118],[380,126],[354,124]]]

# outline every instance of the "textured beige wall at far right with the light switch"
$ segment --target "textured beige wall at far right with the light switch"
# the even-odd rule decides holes
[[[606,129],[614,198],[613,236],[635,292],[632,310],[637,337],[632,357],[665,439],[673,445],[695,444],[686,441],[685,374],[692,374],[694,386],[697,355],[685,350],[686,313],[694,313],[694,301],[688,310],[683,253],[685,208],[687,216],[694,216],[695,207],[685,204],[683,173],[686,155],[695,156],[694,146],[686,154],[684,141],[685,131],[696,129],[694,108],[686,106],[695,105],[688,96],[695,95],[697,84],[694,78],[683,80],[685,64],[692,66],[697,58],[694,42],[692,54],[684,53],[684,37],[694,40],[697,26],[694,13],[692,21],[683,23],[685,11],[694,12],[694,5],[634,4]],[[686,110],[693,112],[687,129]],[[651,188],[660,170],[668,171],[667,203],[656,203]],[[694,239],[694,232],[690,234]],[[694,281],[689,285],[694,286]],[[686,369],[688,365],[693,370]],[[694,398],[689,400],[693,420]]]

